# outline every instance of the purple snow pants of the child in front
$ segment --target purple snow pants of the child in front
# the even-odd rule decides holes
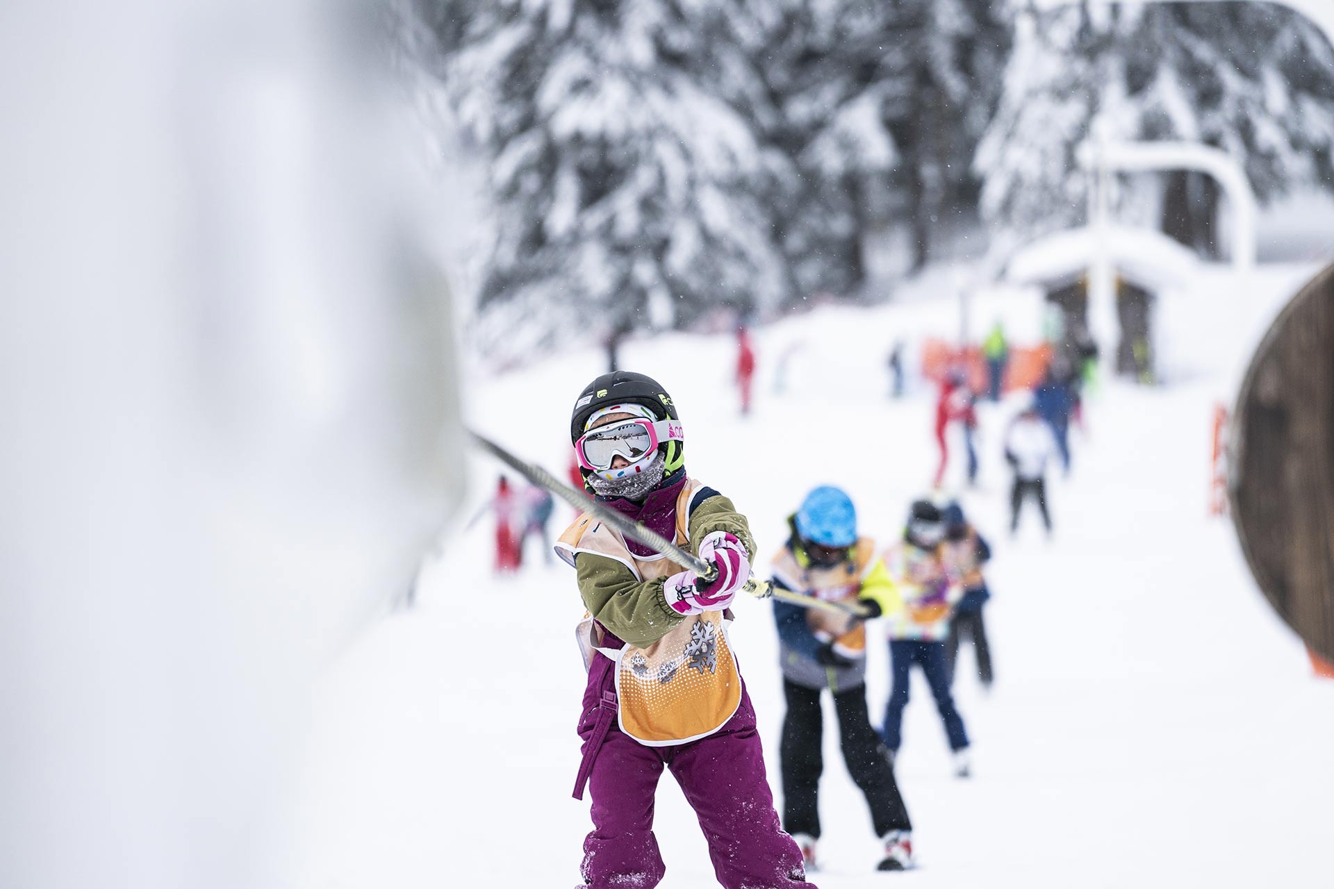
[[[588,888],[652,889],[662,881],[667,868],[654,838],[654,796],[666,766],[699,817],[724,889],[816,889],[806,882],[802,852],[774,810],[750,694],[743,692],[732,718],[706,738],[644,746],[615,721],[606,725],[600,704],[611,700],[604,693],[614,697],[612,665],[600,654],[592,660],[579,720],[586,762],[600,733],[599,714],[607,730],[588,772],[592,832],[580,868]]]

